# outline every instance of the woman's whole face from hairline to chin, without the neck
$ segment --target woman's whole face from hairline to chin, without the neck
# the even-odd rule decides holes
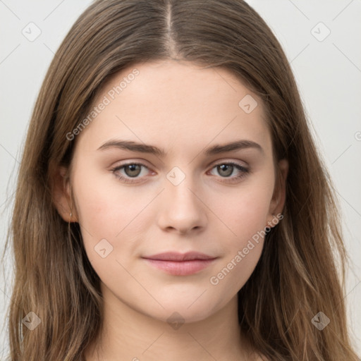
[[[103,292],[185,322],[236,300],[283,207],[260,99],[225,69],[155,61],[114,76],[91,111],[72,221]]]

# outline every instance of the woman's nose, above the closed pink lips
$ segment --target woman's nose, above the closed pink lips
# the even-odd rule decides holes
[[[180,234],[200,232],[207,224],[207,207],[188,178],[178,185],[166,181],[158,219],[159,227],[164,231]]]

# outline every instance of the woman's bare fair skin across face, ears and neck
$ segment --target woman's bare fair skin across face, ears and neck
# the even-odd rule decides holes
[[[70,178],[59,168],[56,181],[59,214],[80,223],[87,257],[102,280],[104,337],[87,348],[86,360],[259,360],[238,326],[237,293],[255,269],[263,239],[218,284],[209,280],[283,209],[288,164],[279,161],[276,187],[262,102],[225,69],[169,60],[123,69],[94,106],[133,68],[139,75],[77,135]],[[238,105],[247,94],[258,102],[250,114]],[[166,156],[98,149],[116,139],[155,145]],[[236,140],[257,142],[263,151],[203,153]],[[229,176],[216,167],[229,161],[249,172],[234,168]],[[137,178],[126,169],[112,171],[130,162],[147,168]],[[176,178],[185,176],[178,185],[167,178],[175,166],[181,170]],[[113,247],[105,258],[94,250],[102,239]],[[216,259],[188,276],[142,259],[169,251]],[[178,329],[167,322],[173,312],[185,322]]]

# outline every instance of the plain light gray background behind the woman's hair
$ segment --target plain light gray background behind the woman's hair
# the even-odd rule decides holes
[[[353,261],[346,300],[354,342],[361,353],[361,307],[357,307],[361,301],[361,1],[248,2],[274,30],[286,51],[340,198],[345,244]],[[1,252],[16,171],[39,87],[63,37],[90,3],[0,0]],[[36,34],[35,25],[28,25],[31,22],[41,30],[32,42],[22,33],[25,28],[29,37]],[[4,275],[1,269],[0,278],[0,359],[3,350],[4,355],[8,350],[5,313],[13,277],[10,255],[6,259],[8,271]]]

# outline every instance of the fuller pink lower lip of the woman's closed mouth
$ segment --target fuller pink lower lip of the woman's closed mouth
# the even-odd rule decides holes
[[[190,274],[196,274],[202,269],[205,269],[214,262],[213,259],[192,259],[191,261],[161,261],[159,259],[149,259],[146,258],[146,261],[149,262],[153,267],[161,269],[168,274],[173,274],[174,276],[189,276]]]

